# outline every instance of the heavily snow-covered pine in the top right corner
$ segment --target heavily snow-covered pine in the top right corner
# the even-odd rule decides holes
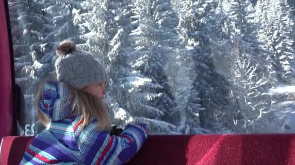
[[[276,71],[279,83],[293,84],[294,70],[294,20],[287,0],[258,0],[257,12],[262,27],[259,39],[269,50],[268,59]]]

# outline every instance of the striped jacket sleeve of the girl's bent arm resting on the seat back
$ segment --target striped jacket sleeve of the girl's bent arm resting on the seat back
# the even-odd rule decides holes
[[[124,164],[140,150],[148,137],[146,124],[127,125],[120,136],[96,129],[86,127],[77,137],[82,163],[86,165]]]

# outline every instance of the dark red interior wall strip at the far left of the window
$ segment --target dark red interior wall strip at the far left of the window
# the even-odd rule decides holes
[[[0,138],[13,135],[11,52],[6,0],[0,0]]]

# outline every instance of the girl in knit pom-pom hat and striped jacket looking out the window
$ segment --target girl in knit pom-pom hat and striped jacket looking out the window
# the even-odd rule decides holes
[[[38,114],[46,126],[25,152],[21,165],[119,165],[139,151],[148,137],[145,124],[112,132],[103,104],[103,66],[71,41],[56,49],[56,79],[48,79],[37,94]]]

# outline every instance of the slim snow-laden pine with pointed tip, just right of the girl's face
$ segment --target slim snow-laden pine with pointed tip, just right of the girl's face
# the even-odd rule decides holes
[[[109,91],[107,95],[107,102],[110,105],[110,110],[115,113],[114,122],[118,126],[122,127],[125,124],[133,122],[129,111],[129,97],[128,93],[131,86],[123,85],[126,83],[126,78],[130,77],[131,67],[128,64],[129,55],[125,49],[125,45],[128,44],[128,36],[124,28],[118,29],[117,34],[110,42],[110,52],[108,58],[110,61],[109,65]],[[120,115],[124,112],[125,115]],[[128,114],[129,119],[126,120]]]

